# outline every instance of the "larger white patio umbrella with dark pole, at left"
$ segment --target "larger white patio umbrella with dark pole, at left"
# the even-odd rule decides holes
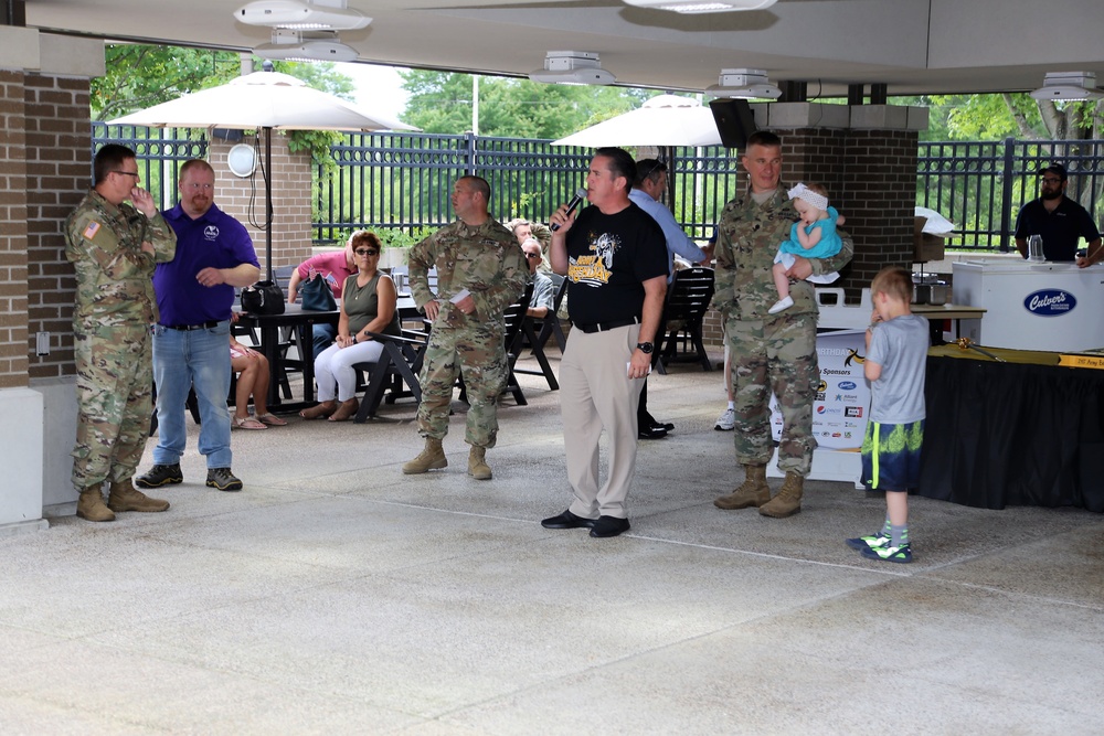
[[[416,130],[399,120],[372,115],[333,95],[308,87],[279,72],[254,72],[226,84],[155,105],[109,120],[108,125],[152,128],[257,129],[265,139],[265,263],[273,277],[272,131],[280,130]]]

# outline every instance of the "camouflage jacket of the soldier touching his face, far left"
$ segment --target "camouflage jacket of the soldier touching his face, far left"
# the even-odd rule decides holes
[[[155,254],[142,253],[142,242]],[[172,260],[177,236],[158,212],[115,206],[95,190],[65,220],[65,257],[76,269],[73,327],[152,324],[157,321],[153,266]]]

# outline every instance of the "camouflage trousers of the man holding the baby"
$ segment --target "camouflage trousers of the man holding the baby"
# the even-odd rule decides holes
[[[816,314],[779,314],[765,321],[729,319],[736,462],[766,465],[774,454],[771,392],[782,412],[778,469],[807,476],[813,466],[813,403],[820,383]]]

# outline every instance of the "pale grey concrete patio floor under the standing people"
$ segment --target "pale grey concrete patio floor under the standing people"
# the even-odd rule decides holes
[[[241,493],[192,438],[169,512],[0,538],[0,733],[1104,733],[1100,514],[913,498],[890,565],[843,545],[883,518],[847,483],[719,511],[721,376],[687,366],[649,382],[677,430],[641,442],[631,532],[546,531],[559,395],[522,384],[490,482],[460,405],[449,468],[402,476],[406,402],[236,430]]]

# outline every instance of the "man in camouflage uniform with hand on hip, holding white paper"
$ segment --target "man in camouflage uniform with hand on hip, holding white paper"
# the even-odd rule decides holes
[[[425,449],[403,466],[407,474],[448,465],[440,442],[448,433],[453,386],[463,374],[470,402],[464,437],[471,446],[468,473],[478,480],[491,477],[486,452],[495,447],[498,396],[508,375],[503,312],[524,291],[529,268],[517,238],[490,216],[489,200],[484,179],[458,179],[452,202],[459,220],[411,248],[411,291],[433,328],[417,408]],[[436,294],[428,281],[434,266]]]

